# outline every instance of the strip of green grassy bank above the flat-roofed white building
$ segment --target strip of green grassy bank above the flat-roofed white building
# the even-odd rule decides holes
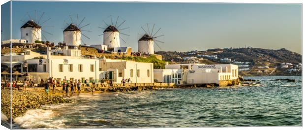
[[[143,62],[143,63],[153,63],[153,68],[165,68],[165,61],[157,59],[155,56],[149,57],[122,57],[122,60],[131,60],[136,62]]]

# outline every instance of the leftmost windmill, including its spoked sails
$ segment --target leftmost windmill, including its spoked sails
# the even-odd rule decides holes
[[[50,22],[48,23],[50,19],[51,18],[45,19],[45,12],[39,13],[36,10],[30,13],[27,12],[20,20],[23,24],[23,26],[21,26],[20,28],[21,39],[25,39],[27,40],[27,42],[30,43],[34,43],[36,40],[41,41],[42,37],[45,40],[48,40],[47,37],[53,34],[47,30],[53,29],[54,27],[54,26],[46,26],[46,24],[50,24]]]

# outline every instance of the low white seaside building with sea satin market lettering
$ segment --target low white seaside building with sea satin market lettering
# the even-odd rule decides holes
[[[206,84],[238,78],[238,65],[174,64],[165,69],[154,69],[158,82],[176,84]]]

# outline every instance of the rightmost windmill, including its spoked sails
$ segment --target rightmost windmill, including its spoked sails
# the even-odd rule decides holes
[[[160,49],[161,47],[157,44],[157,42],[164,43],[159,37],[164,36],[160,32],[161,28],[156,27],[155,24],[146,24],[141,27],[140,36],[138,40],[138,50],[139,52],[154,54],[154,44],[156,44]]]

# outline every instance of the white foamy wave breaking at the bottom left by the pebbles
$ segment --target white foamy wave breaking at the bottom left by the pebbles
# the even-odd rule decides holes
[[[56,114],[52,110],[34,109],[28,110],[22,117],[14,119],[14,123],[20,125],[21,128],[43,128],[43,129],[62,129],[66,120],[48,120],[55,117]]]

